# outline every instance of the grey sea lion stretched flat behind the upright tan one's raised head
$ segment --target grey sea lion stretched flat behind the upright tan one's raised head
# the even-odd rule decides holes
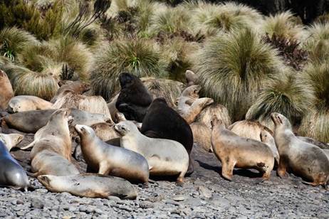
[[[44,127],[51,114],[56,110],[31,110],[26,112],[16,112],[4,117],[6,125],[21,132],[36,133],[38,129]],[[112,122],[106,114],[90,113],[78,109],[70,109],[70,116],[73,117],[73,124],[85,124],[92,126],[100,122]]]

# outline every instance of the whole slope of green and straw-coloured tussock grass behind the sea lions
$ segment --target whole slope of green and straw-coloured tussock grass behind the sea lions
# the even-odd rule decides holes
[[[262,6],[278,11],[269,1]],[[280,112],[301,122],[301,134],[329,141],[328,14],[303,25],[309,16],[264,16],[232,1],[4,0],[0,69],[16,95],[46,100],[63,79],[90,82],[109,100],[123,71],[161,78],[162,90],[156,80],[145,83],[178,94],[190,69],[202,95],[227,107],[233,121],[271,127],[269,114]]]

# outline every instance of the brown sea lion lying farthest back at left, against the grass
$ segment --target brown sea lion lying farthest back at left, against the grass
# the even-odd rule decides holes
[[[86,84],[85,82],[80,81],[74,81],[70,83],[63,84],[62,82],[58,82],[58,85],[60,86],[59,89],[56,92],[55,97],[51,99],[51,102],[56,102],[58,97],[61,97],[63,93],[66,91],[73,92],[77,95],[82,95],[84,92],[90,90],[90,85]]]

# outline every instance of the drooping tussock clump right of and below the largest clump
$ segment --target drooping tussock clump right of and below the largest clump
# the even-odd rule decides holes
[[[271,113],[278,112],[284,114],[291,124],[296,124],[312,109],[313,100],[312,88],[291,70],[268,82],[246,113],[246,119],[258,120],[273,130]]]

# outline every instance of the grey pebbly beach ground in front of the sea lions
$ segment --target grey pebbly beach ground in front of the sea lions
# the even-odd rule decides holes
[[[27,136],[25,141],[33,136]],[[26,144],[26,142],[22,142]],[[261,183],[256,171],[236,170],[234,181],[221,178],[214,154],[195,147],[194,173],[184,186],[157,181],[137,186],[135,201],[79,198],[51,193],[35,178],[34,191],[0,188],[0,218],[328,218],[329,191],[306,186],[290,175]],[[28,152],[12,154],[28,169]],[[24,158],[25,157],[25,158]],[[82,169],[85,167],[79,163]]]

